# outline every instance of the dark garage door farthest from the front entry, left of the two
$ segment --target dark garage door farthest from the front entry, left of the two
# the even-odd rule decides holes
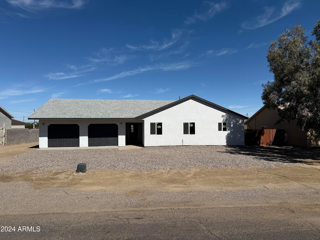
[[[78,124],[50,124],[48,126],[48,146],[79,147]]]

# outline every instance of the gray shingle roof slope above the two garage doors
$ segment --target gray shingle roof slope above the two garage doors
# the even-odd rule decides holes
[[[28,119],[134,118],[172,102],[174,101],[50,99]]]

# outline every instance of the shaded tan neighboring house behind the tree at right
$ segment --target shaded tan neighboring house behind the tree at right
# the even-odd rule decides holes
[[[297,120],[290,123],[288,121],[280,124],[275,124],[279,119],[278,112],[272,108],[268,109],[265,106],[260,108],[253,114],[244,124],[247,124],[247,129],[284,129],[288,136],[287,145],[300,147],[319,147],[320,141],[312,137],[310,132],[302,131],[297,126]]]

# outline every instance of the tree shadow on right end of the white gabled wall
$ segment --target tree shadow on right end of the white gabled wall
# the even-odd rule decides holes
[[[239,118],[230,114],[222,115],[222,121],[227,123],[227,145],[243,145],[244,144],[244,123]]]

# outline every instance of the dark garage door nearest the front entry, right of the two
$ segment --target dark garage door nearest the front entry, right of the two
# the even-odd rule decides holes
[[[117,124],[90,124],[88,146],[118,146]]]

